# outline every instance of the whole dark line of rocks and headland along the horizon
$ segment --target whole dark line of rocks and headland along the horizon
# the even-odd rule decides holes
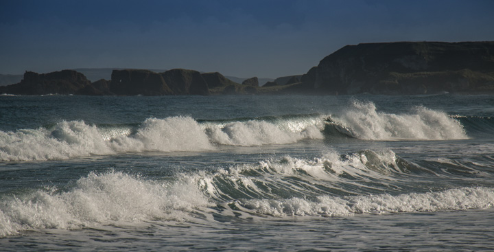
[[[221,73],[172,69],[162,73],[115,69],[111,80],[91,83],[78,71],[26,71],[17,84],[0,87],[16,95],[209,95],[373,93],[417,95],[494,93],[494,42],[397,42],[347,45],[302,76],[284,76],[263,87],[254,77],[238,84]]]

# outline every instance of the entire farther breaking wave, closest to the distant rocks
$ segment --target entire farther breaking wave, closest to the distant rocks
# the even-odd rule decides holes
[[[464,125],[465,126],[464,126]],[[307,139],[375,141],[451,140],[489,136],[491,118],[449,116],[425,107],[407,113],[377,111],[354,101],[331,115],[281,115],[223,120],[149,118],[141,124],[62,121],[36,129],[0,131],[1,161],[72,159],[126,152],[203,152],[218,146],[294,144]],[[482,135],[484,134],[484,135]]]

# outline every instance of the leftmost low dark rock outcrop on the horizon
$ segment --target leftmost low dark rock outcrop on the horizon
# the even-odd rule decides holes
[[[26,71],[21,82],[0,87],[0,93],[16,95],[69,95],[76,93],[90,84],[91,82],[82,73],[73,70],[42,74]]]

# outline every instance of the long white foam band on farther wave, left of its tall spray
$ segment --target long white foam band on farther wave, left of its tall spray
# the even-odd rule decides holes
[[[291,144],[301,139],[322,139],[320,124],[263,121],[199,124],[191,117],[146,119],[136,133],[130,127],[114,128],[82,121],[60,122],[52,128],[0,131],[1,161],[71,159],[119,152],[200,152],[213,144],[261,146]],[[314,121],[314,119],[312,120]]]

